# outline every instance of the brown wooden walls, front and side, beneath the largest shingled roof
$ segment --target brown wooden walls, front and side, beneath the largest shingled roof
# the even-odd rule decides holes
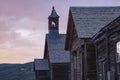
[[[75,26],[71,29],[71,80],[96,80],[95,46],[91,39],[78,38]],[[74,62],[75,55],[76,62]]]

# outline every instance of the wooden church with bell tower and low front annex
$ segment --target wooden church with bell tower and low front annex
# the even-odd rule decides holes
[[[36,80],[69,80],[70,52],[64,50],[66,35],[59,33],[59,16],[54,7],[48,17],[48,29],[44,58],[34,61],[35,78]]]

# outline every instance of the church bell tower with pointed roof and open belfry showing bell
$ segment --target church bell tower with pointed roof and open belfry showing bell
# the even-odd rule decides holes
[[[59,33],[59,16],[55,11],[55,8],[52,8],[52,12],[48,17],[48,27],[49,27],[49,34],[51,33]]]

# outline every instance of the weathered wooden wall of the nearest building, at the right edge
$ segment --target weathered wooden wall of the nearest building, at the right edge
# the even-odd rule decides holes
[[[103,62],[106,62],[106,74],[110,72],[110,77],[106,75],[106,79],[119,80],[116,63],[116,43],[120,41],[120,23],[118,22],[120,20],[108,25],[107,28],[103,29],[102,35],[95,40],[98,80],[104,80],[102,75]]]

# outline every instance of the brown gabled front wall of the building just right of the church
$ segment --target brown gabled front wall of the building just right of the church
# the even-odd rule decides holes
[[[82,79],[82,62],[81,62],[81,54],[82,52],[80,51],[80,47],[82,44],[84,44],[84,40],[79,39],[76,29],[73,26],[72,28],[72,38],[71,38],[71,80],[81,80]],[[76,55],[76,71],[74,69],[74,56]]]

